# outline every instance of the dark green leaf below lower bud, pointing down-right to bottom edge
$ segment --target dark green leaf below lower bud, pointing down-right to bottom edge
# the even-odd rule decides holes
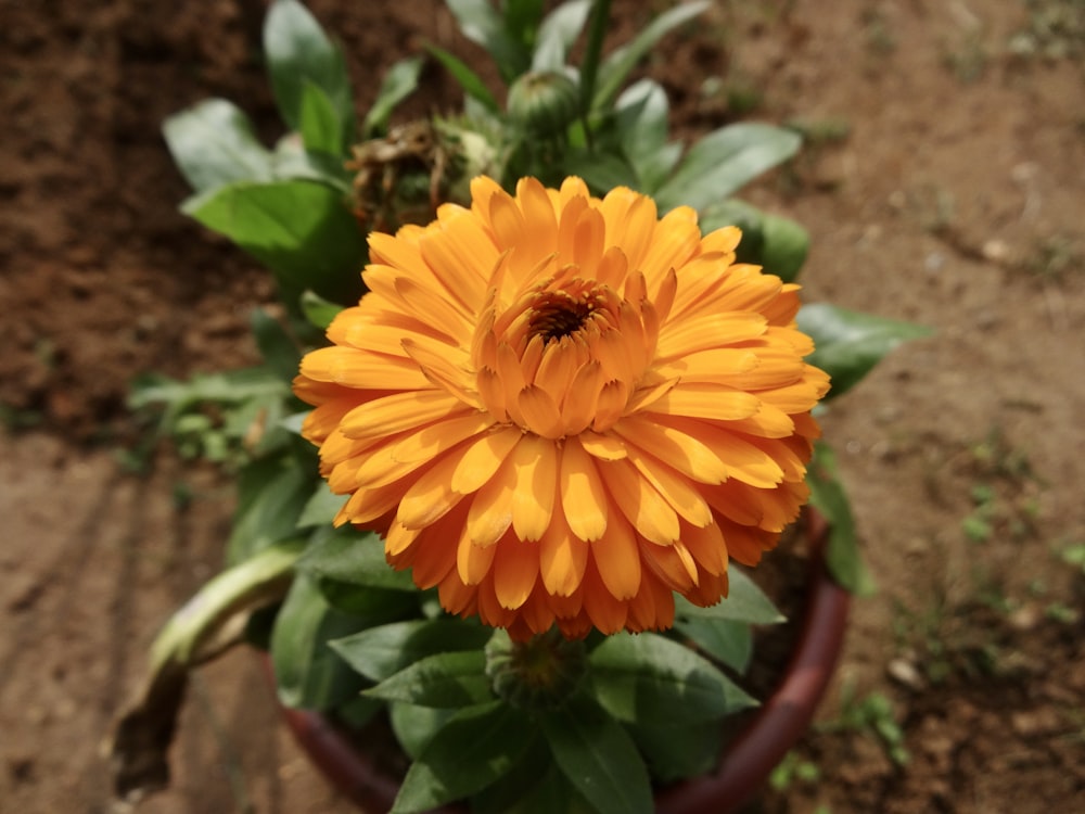
[[[599,814],[651,814],[652,787],[629,735],[591,699],[574,696],[539,716],[562,774]]]

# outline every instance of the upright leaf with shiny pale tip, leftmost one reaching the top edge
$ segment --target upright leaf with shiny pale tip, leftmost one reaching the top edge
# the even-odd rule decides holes
[[[342,51],[296,0],[275,0],[264,23],[264,52],[283,120],[310,150],[354,140],[354,100]],[[328,152],[331,152],[330,150]]]

